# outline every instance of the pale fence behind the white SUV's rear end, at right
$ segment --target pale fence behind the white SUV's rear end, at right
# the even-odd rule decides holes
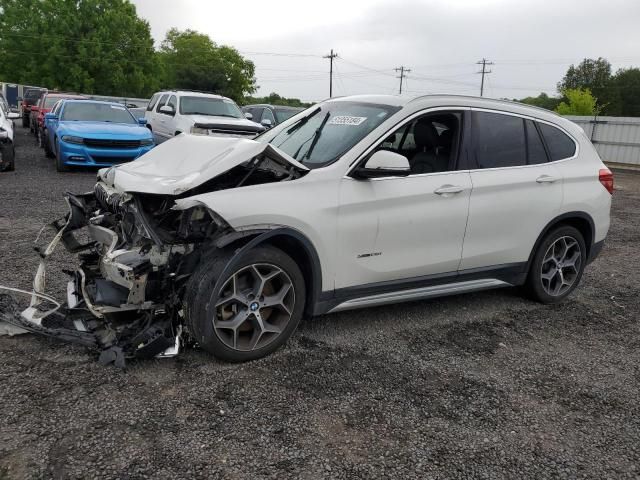
[[[640,118],[567,116],[582,127],[605,162],[640,168]]]

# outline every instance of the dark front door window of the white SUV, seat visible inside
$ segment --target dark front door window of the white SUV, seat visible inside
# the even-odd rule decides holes
[[[391,150],[407,158],[411,175],[455,169],[460,145],[462,114],[423,115],[391,132],[378,150]]]

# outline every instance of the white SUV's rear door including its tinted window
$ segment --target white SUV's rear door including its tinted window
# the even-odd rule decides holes
[[[520,270],[560,211],[562,176],[533,119],[488,110],[471,116],[473,190],[460,270]]]

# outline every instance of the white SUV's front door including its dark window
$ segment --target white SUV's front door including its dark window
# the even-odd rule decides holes
[[[455,169],[462,119],[425,114],[376,147],[405,155],[409,176],[341,181],[337,289],[455,277],[471,194],[469,172]]]

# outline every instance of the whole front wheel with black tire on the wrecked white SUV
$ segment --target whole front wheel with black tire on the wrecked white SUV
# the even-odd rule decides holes
[[[274,352],[289,339],[302,318],[306,288],[295,261],[275,247],[233,255],[212,258],[194,273],[186,318],[207,352],[245,362]],[[232,268],[225,272],[229,262]]]

